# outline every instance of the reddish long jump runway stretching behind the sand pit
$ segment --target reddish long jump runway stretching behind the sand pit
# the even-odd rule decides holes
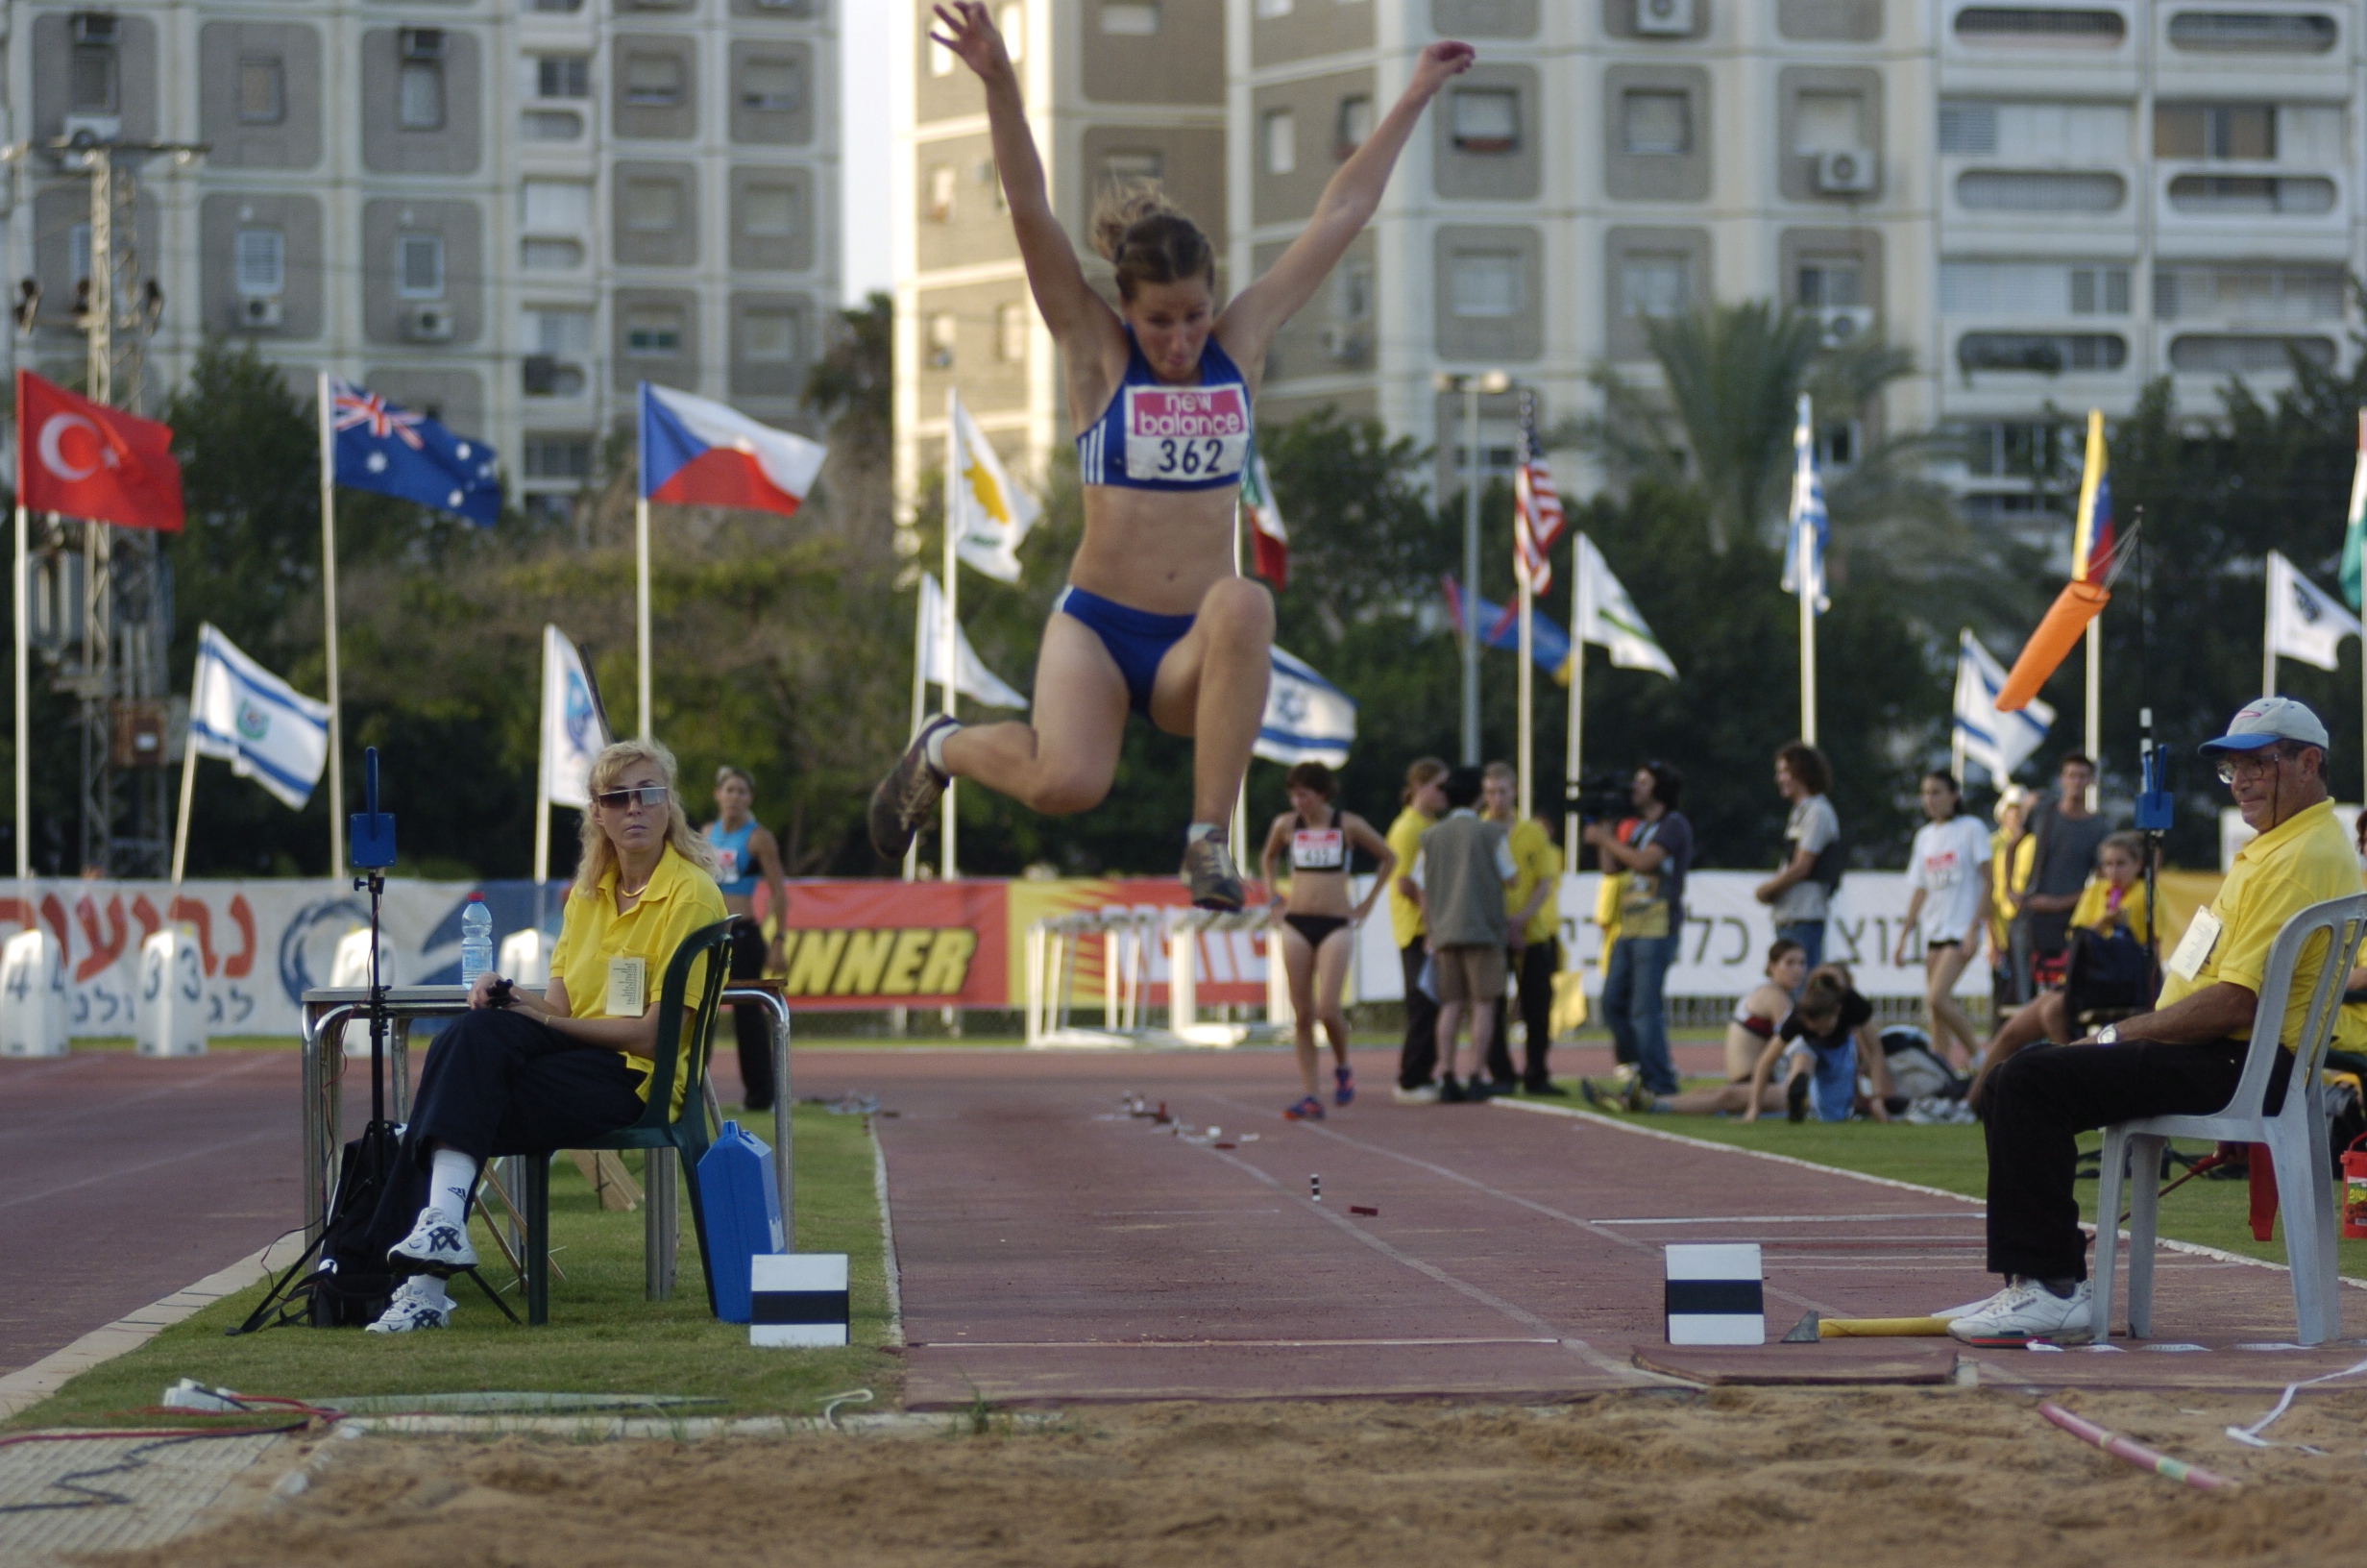
[[[1273,1052],[817,1049],[798,1054],[798,1090],[869,1090],[895,1111],[873,1125],[914,1407],[1553,1397],[1666,1374],[2282,1388],[2362,1357],[2279,1343],[2282,1270],[2180,1251],[2159,1255],[2149,1343],[1671,1350],[1669,1241],[1759,1241],[1773,1338],[1808,1310],[1986,1296],[1981,1206],[1669,1137],[1681,1118],[1392,1106],[1392,1068],[1361,1056],[1359,1101],[1314,1125],[1278,1116],[1292,1071]],[[1129,1116],[1129,1092],[1176,1120]],[[2367,1293],[2343,1305],[2346,1331],[2367,1331]]]

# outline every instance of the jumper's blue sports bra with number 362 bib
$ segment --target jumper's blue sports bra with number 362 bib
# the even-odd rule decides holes
[[[1217,490],[1240,483],[1247,455],[1250,384],[1217,336],[1200,348],[1200,384],[1167,386],[1127,327],[1127,377],[1101,419],[1077,433],[1079,478],[1127,490]]]

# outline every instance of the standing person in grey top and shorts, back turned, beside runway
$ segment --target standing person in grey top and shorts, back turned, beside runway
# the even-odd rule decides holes
[[[1477,767],[1446,775],[1446,815],[1423,834],[1413,881],[1423,888],[1430,969],[1439,988],[1439,1099],[1489,1097],[1486,1037],[1503,1002],[1505,888],[1520,876],[1501,822],[1484,820]],[[1456,1080],[1456,1030],[1470,1018],[1468,1082]]]

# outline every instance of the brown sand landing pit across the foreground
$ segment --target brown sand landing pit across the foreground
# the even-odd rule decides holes
[[[2244,1485],[2133,1471],[2002,1390],[1602,1393],[1553,1407],[1079,1407],[923,1435],[604,1442],[365,1438],[312,1487],[109,1568],[249,1563],[1356,1563],[1697,1568],[2358,1563],[2367,1390],[2064,1405]],[[1574,1559],[1572,1551],[1591,1554]],[[2031,1556],[2036,1554],[2036,1556]]]

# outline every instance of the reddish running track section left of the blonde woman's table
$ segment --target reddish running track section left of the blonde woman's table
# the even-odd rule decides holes
[[[303,1222],[291,1049],[0,1061],[0,1371]]]

